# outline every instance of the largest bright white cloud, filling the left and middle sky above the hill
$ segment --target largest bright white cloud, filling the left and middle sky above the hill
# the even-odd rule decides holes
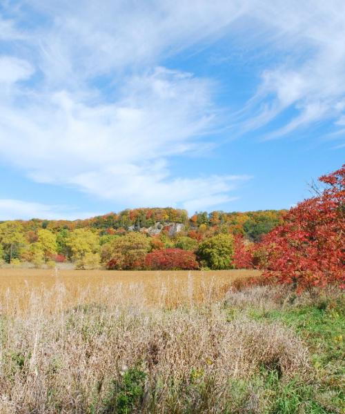
[[[176,178],[166,161],[215,126],[211,91],[207,80],[157,68],[128,79],[116,103],[92,106],[66,91],[39,95],[30,109],[7,103],[0,151],[35,181],[126,206],[214,206],[248,177]]]

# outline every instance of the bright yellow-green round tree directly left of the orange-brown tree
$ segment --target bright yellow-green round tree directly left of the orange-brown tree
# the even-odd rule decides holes
[[[66,244],[71,250],[72,260],[78,261],[87,253],[98,253],[99,236],[86,228],[77,228],[70,233]]]

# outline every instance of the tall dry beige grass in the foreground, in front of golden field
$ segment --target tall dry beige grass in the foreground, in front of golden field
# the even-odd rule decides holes
[[[147,306],[141,284],[77,290],[66,283],[28,284],[23,297],[7,290],[0,317],[0,413],[261,413],[264,390],[241,394],[231,384],[262,369],[282,382],[306,377],[308,353],[291,331],[229,319],[213,303],[221,288],[210,284],[207,292],[200,284],[195,295],[194,276],[184,278],[173,302],[183,306],[170,309],[166,297]],[[194,299],[204,304],[196,306]],[[25,309],[18,307],[25,301]],[[144,375],[142,394],[133,410],[121,411],[111,389],[122,389],[121,375],[132,369]]]

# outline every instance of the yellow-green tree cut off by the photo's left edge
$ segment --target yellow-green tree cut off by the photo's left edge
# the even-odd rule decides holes
[[[17,258],[19,246],[25,242],[23,226],[19,221],[5,221],[0,224],[0,243],[6,262],[11,263],[12,258]]]

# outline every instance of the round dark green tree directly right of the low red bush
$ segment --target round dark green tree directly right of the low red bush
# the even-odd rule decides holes
[[[219,234],[202,242],[197,250],[201,266],[221,270],[233,268],[234,239],[232,235]]]

